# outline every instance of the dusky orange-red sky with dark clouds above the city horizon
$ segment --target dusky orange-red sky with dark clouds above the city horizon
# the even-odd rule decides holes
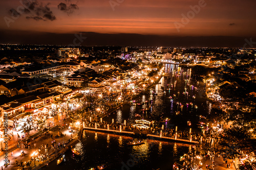
[[[77,34],[87,37],[81,45],[242,47],[256,37],[255,8],[254,0],[1,1],[0,43],[72,44]]]

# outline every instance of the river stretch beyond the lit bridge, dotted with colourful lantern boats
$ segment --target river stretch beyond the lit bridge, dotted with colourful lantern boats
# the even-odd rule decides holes
[[[103,120],[111,123],[114,118],[118,123],[123,123],[124,120],[134,123],[135,119],[141,118],[155,122],[168,118],[168,126],[177,126],[180,130],[189,131],[189,128],[192,128],[194,132],[202,131],[197,125],[199,115],[207,115],[211,110],[211,103],[204,99],[203,82],[191,78],[191,69],[184,69],[178,65],[166,64],[165,72],[170,72],[170,77],[162,77],[159,84],[153,88],[152,91],[157,95],[145,94],[136,99],[138,103],[150,101],[150,110],[141,111],[150,105],[124,105]],[[187,126],[188,121],[191,122],[191,126]]]

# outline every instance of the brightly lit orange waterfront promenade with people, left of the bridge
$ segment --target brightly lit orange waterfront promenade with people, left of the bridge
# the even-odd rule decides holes
[[[25,169],[38,169],[39,166],[44,165],[46,162],[50,162],[54,160],[58,153],[64,153],[69,149],[69,145],[75,144],[74,142],[77,139],[77,130],[75,129],[73,133],[69,132],[68,126],[63,127],[63,124],[66,123],[68,120],[65,118],[66,115],[58,114],[58,121],[55,122],[55,126],[50,128],[48,133],[44,133],[42,131],[36,131],[35,134],[30,133],[30,136],[34,136],[34,140],[31,140],[29,136],[28,137],[28,143],[30,143],[30,148],[25,148],[25,140],[24,138],[22,141],[21,147],[17,148],[16,144],[17,139],[15,138],[15,135],[13,136],[13,139],[10,141],[10,144],[8,144],[8,159],[10,160],[10,164],[8,166],[4,165],[4,159],[5,159],[5,152],[1,151],[0,156],[0,168],[3,167],[3,169],[23,169],[22,166],[20,166],[21,161],[22,162],[28,162],[30,161],[29,166],[25,166]],[[64,120],[65,118],[65,120]],[[63,134],[62,136],[58,136],[59,134]],[[51,135],[52,134],[52,135]],[[17,136],[17,135],[16,135]],[[52,136],[52,137],[51,137]],[[74,140],[72,140],[72,138]],[[52,147],[52,143],[56,143],[55,146]],[[66,147],[63,147],[63,144],[66,143]],[[48,147],[46,147],[46,144],[48,144]],[[47,149],[47,150],[46,150]],[[24,151],[25,155],[21,156],[20,152]],[[36,154],[35,154],[36,153]],[[48,157],[46,155],[48,154]],[[41,157],[44,155],[44,160],[35,161],[35,156],[40,155]],[[17,159],[17,163],[15,162],[15,159]]]

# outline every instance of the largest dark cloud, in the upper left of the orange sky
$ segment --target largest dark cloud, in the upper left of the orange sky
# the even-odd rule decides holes
[[[25,5],[28,7],[24,10],[23,13],[18,13],[14,9],[10,9],[10,15],[17,17],[25,14],[27,19],[34,20],[55,20],[56,17],[48,7],[49,4],[44,5],[42,3],[38,3],[36,0],[33,2],[25,2]]]

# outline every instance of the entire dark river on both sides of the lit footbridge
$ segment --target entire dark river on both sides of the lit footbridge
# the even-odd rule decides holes
[[[157,95],[145,94],[136,99],[138,103],[150,101],[150,110],[141,111],[149,107],[149,104],[124,105],[103,120],[112,122],[114,118],[118,123],[123,123],[124,120],[133,123],[135,119],[140,118],[150,121],[169,118],[170,123],[166,124],[169,128],[178,126],[179,130],[192,128],[192,131],[200,132],[197,115],[209,114],[211,110],[211,103],[203,98],[203,82],[198,83],[191,79],[191,69],[184,69],[178,65],[165,65],[165,72],[169,72],[170,77],[163,77],[154,87]],[[187,125],[188,120],[191,126]],[[56,165],[55,160],[44,169],[90,169],[102,164],[107,165],[105,169],[172,169],[174,162],[191,150],[191,145],[188,144],[150,139],[139,146],[127,145],[126,143],[131,140],[133,138],[127,136],[84,131],[81,142],[76,145],[82,151],[81,156],[75,156],[71,151],[67,151],[65,162]],[[133,161],[134,159],[137,161]]]

